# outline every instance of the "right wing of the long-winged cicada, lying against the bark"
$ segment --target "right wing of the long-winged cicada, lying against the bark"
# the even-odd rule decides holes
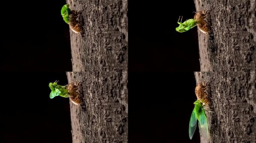
[[[208,140],[209,132],[208,132],[208,120],[206,118],[204,109],[202,109],[202,112],[199,114],[199,132],[201,136]]]

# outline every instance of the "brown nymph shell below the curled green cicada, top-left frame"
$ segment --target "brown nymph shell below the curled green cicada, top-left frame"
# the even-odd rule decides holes
[[[76,20],[76,18],[77,18],[77,13],[72,10],[71,14],[69,15],[68,25],[72,31],[74,31],[75,33],[80,33],[81,26],[79,21]]]

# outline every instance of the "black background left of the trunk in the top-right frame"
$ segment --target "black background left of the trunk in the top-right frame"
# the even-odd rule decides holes
[[[193,0],[128,5],[129,71],[200,71],[197,29],[175,30],[179,16],[193,18]]]

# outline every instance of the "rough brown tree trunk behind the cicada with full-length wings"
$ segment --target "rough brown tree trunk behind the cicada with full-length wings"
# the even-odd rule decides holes
[[[208,82],[206,112],[210,143],[256,142],[256,75],[253,72],[195,72],[196,82]],[[206,143],[201,138],[201,143]]]

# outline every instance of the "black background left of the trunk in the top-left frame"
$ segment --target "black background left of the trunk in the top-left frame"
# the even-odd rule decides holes
[[[1,71],[71,71],[65,0],[1,2]]]

